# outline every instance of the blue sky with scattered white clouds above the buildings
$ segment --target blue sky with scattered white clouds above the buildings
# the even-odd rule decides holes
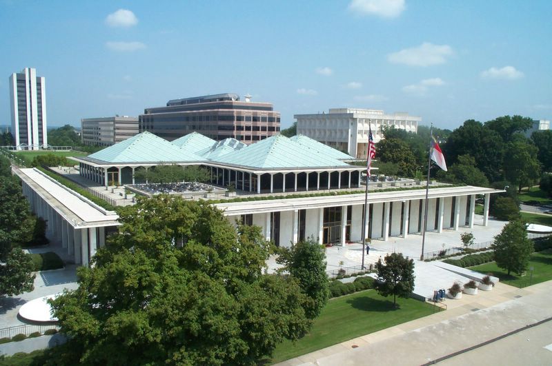
[[[449,129],[552,119],[550,14],[548,0],[0,0],[0,125],[26,67],[46,77],[50,126],[221,92],[273,103],[282,128],[346,107]]]

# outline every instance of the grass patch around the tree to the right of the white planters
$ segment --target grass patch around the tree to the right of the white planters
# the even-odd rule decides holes
[[[552,280],[552,250],[543,250],[542,252],[531,254],[529,268],[531,267],[533,267],[533,278],[531,278],[529,270],[524,276],[517,276],[516,274],[508,275],[507,271],[499,268],[495,262],[476,265],[475,267],[470,267],[470,270],[485,274],[492,273],[493,276],[500,278],[501,282],[515,287],[535,285],[535,283]]]

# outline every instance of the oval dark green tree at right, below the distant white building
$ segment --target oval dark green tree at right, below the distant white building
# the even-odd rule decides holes
[[[506,145],[504,159],[504,176],[517,186],[518,192],[522,187],[533,185],[540,177],[540,164],[537,159],[538,149],[529,139],[518,135]]]

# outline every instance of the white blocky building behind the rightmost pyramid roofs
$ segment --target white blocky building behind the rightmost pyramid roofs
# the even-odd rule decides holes
[[[357,158],[366,158],[368,131],[372,130],[374,142],[383,138],[382,127],[395,127],[407,132],[417,132],[421,117],[397,112],[386,114],[382,110],[357,108],[331,108],[329,113],[295,114],[297,134],[303,134],[332,148]]]

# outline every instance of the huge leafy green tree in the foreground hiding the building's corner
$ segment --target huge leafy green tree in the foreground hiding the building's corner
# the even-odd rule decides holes
[[[72,363],[253,365],[310,326],[297,280],[262,273],[259,227],[168,195],[119,214],[79,288],[52,301]]]

